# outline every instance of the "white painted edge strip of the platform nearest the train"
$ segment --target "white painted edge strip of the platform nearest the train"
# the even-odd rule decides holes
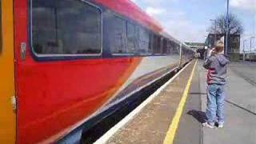
[[[118,124],[116,124],[114,127],[112,127],[110,130],[106,132],[106,134],[102,135],[101,138],[99,138],[94,144],[103,144],[106,143],[120,128],[126,125],[127,122],[129,122],[131,119],[134,118],[147,104],[153,101],[154,98],[160,94],[162,90],[166,88],[170,84],[170,82],[173,82],[175,78],[178,77],[180,73],[182,73],[183,70],[186,69],[187,66],[190,66],[190,64],[193,62],[188,63],[182,70],[179,70],[177,74],[174,75],[173,78],[170,78],[168,82],[166,82],[164,85],[162,85],[158,90],[154,92],[154,94],[151,94],[149,98],[147,98],[144,102],[142,102],[136,109],[134,109],[130,114],[126,115],[125,118],[123,118]]]

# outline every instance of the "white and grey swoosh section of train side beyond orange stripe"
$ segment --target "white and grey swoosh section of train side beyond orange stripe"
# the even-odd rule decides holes
[[[166,74],[178,66],[178,55],[145,57],[137,66],[130,78],[120,87],[114,94],[113,99],[108,103],[110,106],[113,103],[121,102],[124,98],[132,94],[134,90],[141,89],[146,83],[152,82],[159,78],[159,74]],[[146,83],[139,85],[142,81]]]

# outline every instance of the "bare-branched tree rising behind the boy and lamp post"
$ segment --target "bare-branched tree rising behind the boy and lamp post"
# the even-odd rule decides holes
[[[215,23],[216,22],[216,23]],[[242,22],[238,19],[235,14],[229,14],[229,34],[242,34],[243,26]],[[216,24],[216,30],[215,30]],[[209,28],[210,33],[212,34],[226,34],[226,15],[222,14],[216,18],[215,21],[211,23]]]

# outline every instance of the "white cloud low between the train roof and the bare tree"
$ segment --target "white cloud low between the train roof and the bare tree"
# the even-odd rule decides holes
[[[190,22],[182,10],[166,10],[152,6],[147,7],[146,12],[156,18],[168,34],[182,42],[202,42],[205,39],[206,26]]]

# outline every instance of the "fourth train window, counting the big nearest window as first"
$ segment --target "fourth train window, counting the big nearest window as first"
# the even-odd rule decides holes
[[[142,28],[141,26],[138,27],[139,31],[139,54],[150,54],[150,33]]]

